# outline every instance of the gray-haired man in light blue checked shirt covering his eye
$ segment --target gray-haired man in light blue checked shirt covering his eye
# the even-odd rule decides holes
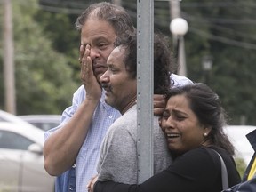
[[[96,174],[100,143],[108,127],[121,116],[105,103],[99,79],[107,70],[106,61],[116,37],[134,32],[129,14],[106,2],[90,5],[77,18],[76,28],[81,31],[83,85],[74,93],[72,106],[63,112],[61,124],[45,133],[44,167],[49,174],[58,176],[56,192],[86,191],[88,180]],[[176,77],[180,84],[190,82]],[[161,107],[162,101],[157,103],[156,107]]]

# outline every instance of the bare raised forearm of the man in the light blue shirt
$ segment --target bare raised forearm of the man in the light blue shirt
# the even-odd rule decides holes
[[[68,123],[45,141],[44,168],[49,174],[59,175],[75,164],[97,103],[97,100],[85,99]]]

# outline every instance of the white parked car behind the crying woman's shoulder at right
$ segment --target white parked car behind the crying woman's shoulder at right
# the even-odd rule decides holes
[[[254,150],[246,138],[246,134],[256,129],[256,126],[250,125],[228,125],[224,128],[224,132],[228,134],[229,140],[236,149],[235,158],[243,158],[244,163],[250,163]]]

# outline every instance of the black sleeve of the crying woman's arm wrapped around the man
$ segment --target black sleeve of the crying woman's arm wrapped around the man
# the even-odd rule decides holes
[[[218,161],[220,160],[212,158],[204,148],[196,148],[179,156],[168,169],[140,185],[99,181],[94,186],[94,192],[212,191],[213,188],[221,188]]]

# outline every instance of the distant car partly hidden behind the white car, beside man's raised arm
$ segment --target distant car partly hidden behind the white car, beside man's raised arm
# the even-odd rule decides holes
[[[33,124],[40,129],[47,131],[60,124],[60,115],[26,115],[19,116],[21,119]]]

